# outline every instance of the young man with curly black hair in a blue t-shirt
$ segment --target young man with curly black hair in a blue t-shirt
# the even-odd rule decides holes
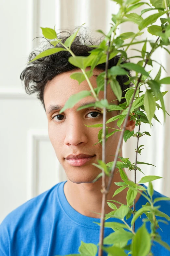
[[[49,47],[50,43],[49,43]],[[87,56],[90,47],[82,45],[77,37],[71,47],[75,55]],[[31,53],[29,60],[36,56]],[[67,181],[60,182],[50,190],[27,201],[17,209],[7,215],[0,225],[0,255],[21,256],[54,256],[76,254],[81,241],[84,243],[99,243],[102,193],[102,179],[96,182],[92,180],[101,172],[92,163],[97,159],[102,159],[102,145],[98,142],[98,132],[101,129],[87,127],[102,123],[102,113],[100,108],[84,108],[77,111],[80,105],[94,102],[92,96],[80,100],[73,108],[66,109],[59,114],[65,102],[73,94],[82,90],[90,90],[86,81],[78,85],[76,80],[70,75],[81,72],[68,62],[70,54],[59,52],[42,59],[39,59],[24,69],[21,73],[21,80],[24,80],[25,90],[28,94],[38,93],[37,98],[42,102],[48,119],[48,130],[50,141],[54,147],[57,158],[63,166]],[[116,65],[119,57],[109,61],[109,68]],[[90,67],[87,67],[89,70]],[[93,88],[97,87],[96,77],[103,72],[105,64],[98,65],[93,70],[90,78]],[[122,91],[126,88],[123,84],[128,80],[127,76],[119,76]],[[123,92],[124,96],[125,92]],[[99,100],[103,98],[103,91],[99,93]],[[107,85],[107,100],[113,103],[116,100],[110,85]],[[114,101],[116,102],[116,101]],[[123,100],[121,101],[121,103]],[[118,104],[118,102],[117,102]],[[107,112],[106,119],[118,113]],[[109,127],[118,128],[117,121],[109,123]],[[128,119],[126,130],[134,130],[135,123]],[[108,129],[111,132],[112,129]],[[119,141],[120,133],[117,132],[109,137],[106,142],[106,163],[113,161]],[[120,152],[122,156],[122,150]],[[113,200],[112,195],[118,186],[115,182],[120,182],[121,177],[116,170],[107,200]],[[106,177],[108,181],[108,177]],[[144,184],[142,184],[147,188]],[[127,189],[114,197],[114,200],[126,205]],[[163,197],[159,192],[154,191],[153,199]],[[136,210],[145,205],[147,200],[141,194],[136,196]],[[120,204],[115,203],[117,207]],[[160,210],[169,213],[169,201],[160,201],[155,205],[161,205]],[[106,204],[106,213],[112,209]],[[125,221],[130,225],[133,214]],[[146,217],[144,214],[142,218]],[[159,217],[159,219],[163,219]],[[120,222],[119,219],[109,218],[106,221]],[[135,222],[135,231],[142,225],[140,218]],[[150,223],[146,223],[150,232]],[[158,232],[162,240],[170,245],[170,232],[168,226],[160,223]],[[104,236],[108,236],[113,230],[105,228]],[[130,241],[129,241],[130,242]],[[129,244],[129,243],[128,243]],[[170,252],[159,244],[152,247],[154,255],[170,255]],[[97,255],[97,254],[96,254]],[[106,255],[104,252],[103,255]]]

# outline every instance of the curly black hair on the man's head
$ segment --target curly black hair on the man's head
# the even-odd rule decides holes
[[[65,40],[74,33],[74,30],[72,30],[71,32],[69,31],[69,29],[67,30],[68,31],[62,31],[57,34],[57,38],[61,39],[62,43],[64,43]],[[33,60],[40,52],[44,50],[47,50],[53,47],[63,47],[60,43],[58,43],[56,46],[53,46],[48,39],[46,38],[44,39],[45,41],[43,41],[42,43],[45,42],[45,45],[42,47],[41,50],[32,51],[28,57],[28,61]],[[89,46],[89,43],[91,43],[91,45],[99,45],[101,40],[102,40],[102,37],[100,37],[100,39],[95,41],[94,39],[92,40],[89,35],[79,33],[79,35],[76,36],[76,38],[74,39],[71,45],[71,50],[77,56],[88,56],[90,55],[90,51],[94,49]],[[46,57],[37,59],[34,62],[28,63],[26,68],[21,72],[20,79],[21,81],[24,80],[26,93],[27,94],[37,93],[36,97],[41,101],[44,109],[45,109],[45,104],[44,104],[43,94],[44,94],[44,88],[46,83],[62,72],[66,72],[66,71],[70,71],[78,68],[68,62],[68,58],[70,56],[71,54],[69,52],[60,51],[50,56],[46,56]],[[117,55],[114,58],[110,59],[108,63],[108,68],[115,66],[118,63],[120,56],[121,55]],[[102,64],[98,64],[96,67],[104,71],[105,65],[106,63],[102,63]],[[124,90],[127,89],[128,87],[131,87],[131,84],[128,84],[128,85],[124,84],[124,82],[127,82],[129,78],[127,75],[120,75],[120,76],[117,76],[116,79],[120,84],[120,87],[122,90],[122,97],[124,97],[125,96]],[[120,104],[123,102],[125,102],[125,99],[121,99]]]

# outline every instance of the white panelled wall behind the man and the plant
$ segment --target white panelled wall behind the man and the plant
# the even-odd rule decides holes
[[[139,14],[142,8],[138,9]],[[58,31],[59,28],[64,30],[86,23],[84,27],[89,28],[93,36],[96,29],[108,32],[111,14],[117,10],[118,5],[111,0],[1,0],[0,222],[22,203],[66,180],[48,137],[45,111],[35,95],[27,95],[21,85],[20,74],[26,67],[28,55],[40,42],[33,39],[42,36],[40,27],[54,28],[54,25]],[[135,24],[125,24],[118,33],[137,29]],[[140,40],[145,36],[146,33]],[[154,36],[147,37],[155,40]],[[142,45],[138,47],[141,49]],[[129,50],[128,54],[136,53]],[[161,78],[169,76],[166,52],[158,50],[153,58],[166,67],[168,74],[162,73]],[[158,70],[158,66],[154,67],[155,71],[151,72],[153,78]],[[150,69],[151,66],[148,67]],[[163,85],[162,91],[168,89],[169,85]],[[170,93],[164,99],[166,110],[170,113]],[[139,145],[143,144],[145,148],[138,160],[156,165],[156,168],[149,165],[140,167],[146,175],[163,177],[153,181],[154,189],[170,196],[170,117],[167,116],[163,125],[162,111],[157,111],[156,115],[162,125],[155,120],[151,130],[148,124],[141,125],[141,131],[149,131],[151,137],[140,138]],[[135,148],[136,139],[131,137],[123,144],[123,156],[135,162]],[[134,180],[133,171],[126,171]],[[142,176],[137,172],[137,182]]]

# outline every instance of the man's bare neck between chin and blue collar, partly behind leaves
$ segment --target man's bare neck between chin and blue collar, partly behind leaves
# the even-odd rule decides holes
[[[106,176],[106,184],[108,183],[108,178]],[[120,173],[118,169],[115,169],[114,178],[112,179],[112,183],[110,186],[109,193],[107,194],[106,200],[116,200],[122,204],[126,205],[126,194],[128,191],[128,187],[121,191],[119,194],[113,194],[115,190],[120,188],[115,185],[114,182],[122,181],[120,177]],[[92,217],[92,218],[100,218],[101,206],[102,206],[102,178],[94,183],[73,183],[70,180],[67,180],[64,184],[64,194],[68,201],[68,203],[79,213],[82,215]],[[136,202],[139,199],[140,194],[138,193],[136,196]],[[118,208],[120,204],[113,202]],[[132,208],[133,206],[131,206]],[[112,209],[105,204],[105,213],[109,213]]]

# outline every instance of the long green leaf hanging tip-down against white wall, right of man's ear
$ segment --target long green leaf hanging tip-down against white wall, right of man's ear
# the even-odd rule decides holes
[[[156,109],[156,102],[151,93],[151,90],[146,90],[146,93],[144,95],[144,107],[147,113],[149,123],[151,124],[151,120],[154,116],[155,109]]]

